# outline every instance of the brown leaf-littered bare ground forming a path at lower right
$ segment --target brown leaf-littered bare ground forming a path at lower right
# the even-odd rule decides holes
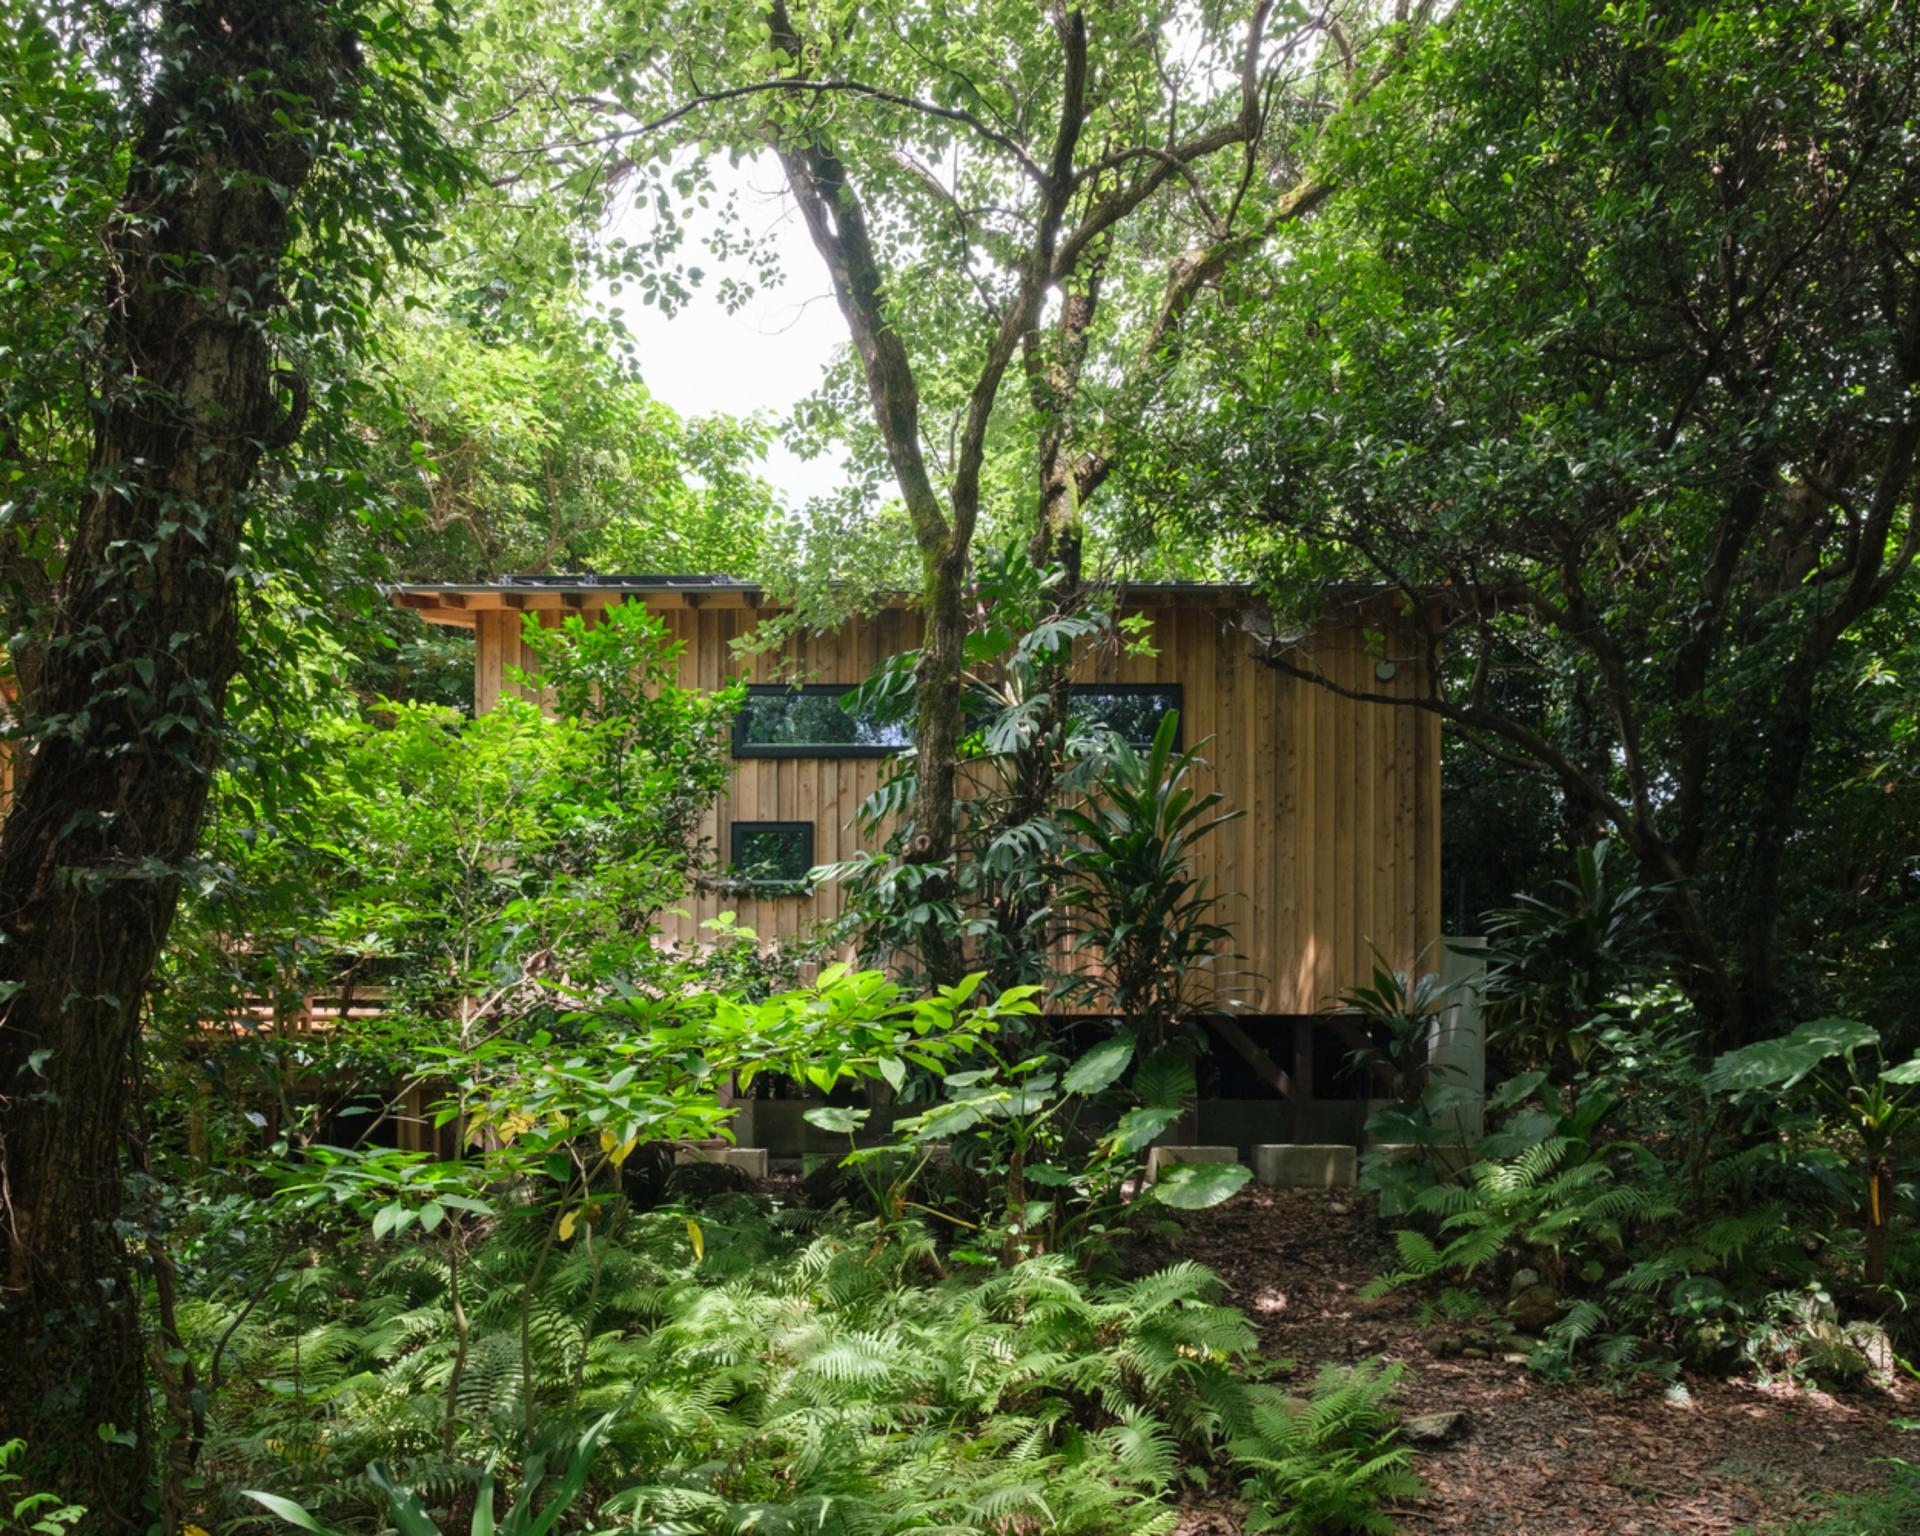
[[[1413,1292],[1361,1302],[1394,1267],[1371,1202],[1250,1187],[1156,1242],[1154,1263],[1196,1260],[1227,1284],[1261,1350],[1311,1379],[1323,1363],[1404,1361],[1405,1413],[1465,1409],[1467,1432],[1425,1452],[1427,1498],[1398,1511],[1405,1536],[1738,1536],[1776,1532],[1818,1494],[1882,1480],[1907,1450],[1889,1417],[1914,1394],[1843,1396],[1751,1380],[1684,1379],[1630,1390],[1544,1380],[1523,1363],[1444,1359]],[[1457,1334],[1457,1331],[1453,1331]],[[1240,1536],[1231,1503],[1194,1503],[1181,1536]]]

